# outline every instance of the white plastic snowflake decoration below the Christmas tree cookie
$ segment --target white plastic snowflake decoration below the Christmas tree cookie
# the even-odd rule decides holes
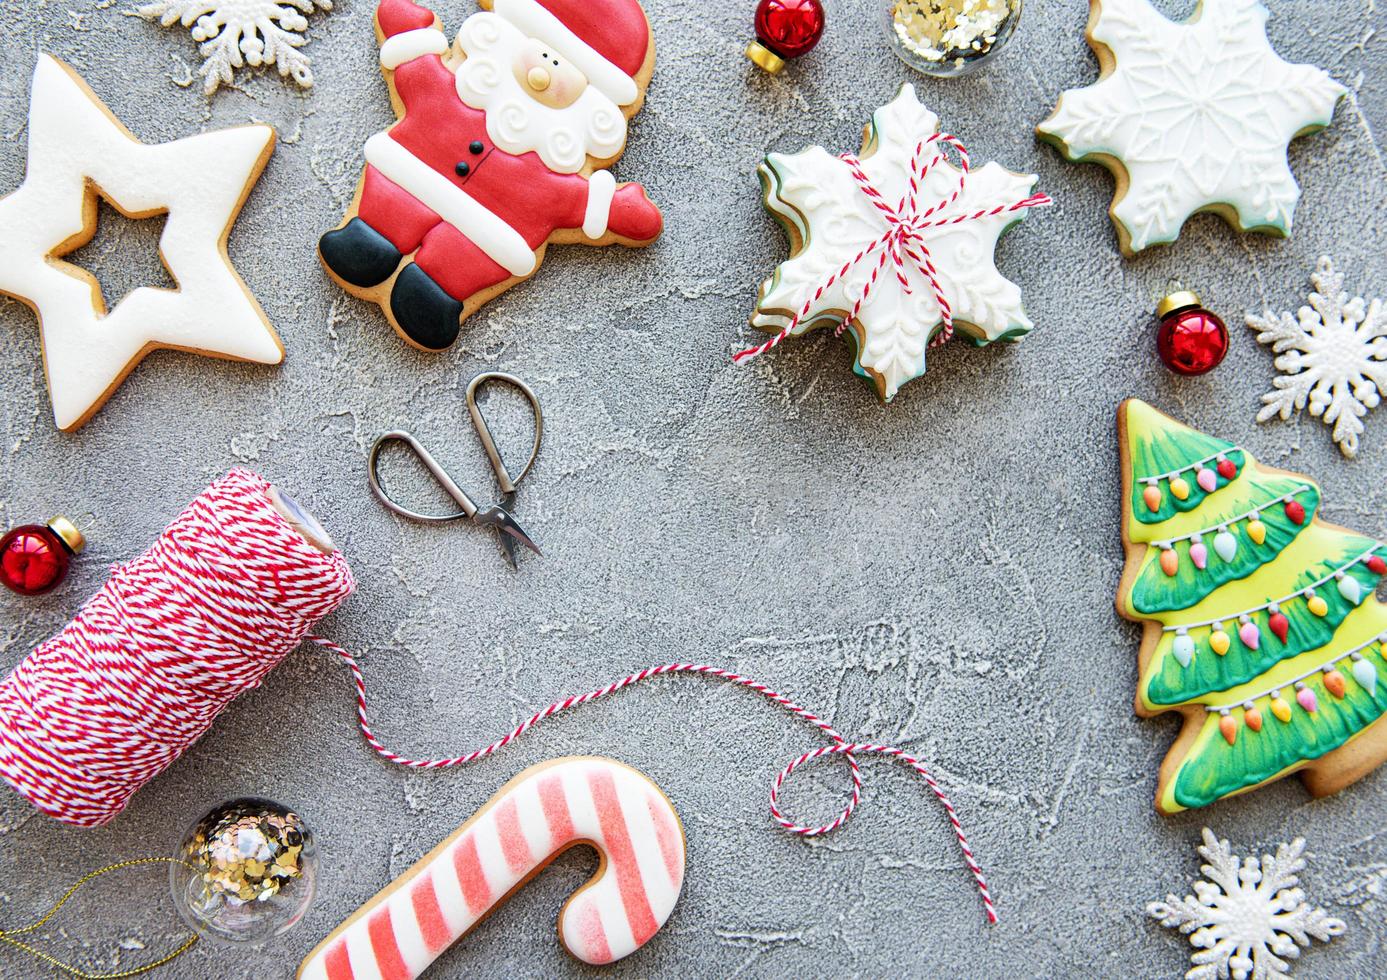
[[[1194,882],[1194,895],[1150,902],[1147,915],[1166,929],[1179,929],[1198,948],[1186,980],[1287,980],[1290,963],[1312,938],[1327,943],[1345,926],[1322,908],[1305,904],[1297,872],[1305,841],[1277,844],[1276,857],[1243,858],[1239,865],[1226,840],[1204,828],[1200,868],[1208,880]]]

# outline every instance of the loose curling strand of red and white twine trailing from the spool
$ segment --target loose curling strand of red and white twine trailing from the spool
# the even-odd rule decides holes
[[[761,694],[767,700],[781,706],[791,714],[798,715],[799,718],[807,721],[810,725],[820,729],[824,735],[827,735],[829,739],[834,740],[834,744],[807,751],[779,771],[779,773],[775,776],[775,782],[771,785],[771,793],[770,793],[771,819],[774,819],[785,830],[795,834],[800,834],[803,837],[817,837],[831,830],[836,830],[838,828],[841,828],[843,823],[847,822],[847,818],[853,815],[854,810],[857,810],[857,804],[861,803],[863,783],[861,783],[861,771],[857,765],[857,755],[874,754],[899,760],[900,762],[908,765],[911,769],[920,773],[920,776],[929,785],[929,789],[933,791],[933,794],[939,798],[939,803],[943,804],[945,812],[949,815],[949,823],[953,826],[954,834],[958,837],[958,847],[963,850],[964,864],[968,865],[968,870],[972,873],[974,882],[976,882],[978,884],[978,893],[982,897],[982,905],[988,913],[988,922],[994,923],[997,920],[997,909],[992,902],[992,893],[988,889],[988,879],[983,877],[982,868],[974,858],[972,847],[968,846],[968,837],[964,834],[963,825],[958,821],[957,812],[954,812],[953,803],[950,803],[947,793],[945,793],[943,787],[939,786],[939,783],[935,780],[935,778],[929,773],[929,771],[924,767],[924,764],[918,758],[908,755],[906,751],[896,749],[895,746],[881,746],[865,742],[847,742],[843,736],[841,736],[836,730],[834,730],[832,725],[829,725],[827,721],[816,715],[809,708],[796,704],[785,694],[781,694],[757,681],[742,676],[741,674],[734,674],[732,671],[727,671],[720,667],[712,667],[709,664],[662,664],[660,667],[648,667],[644,671],[628,674],[620,681],[614,681],[606,685],[605,688],[598,688],[584,694],[574,694],[571,697],[565,697],[563,700],[555,701],[549,707],[541,711],[535,711],[533,715],[530,715],[527,719],[516,725],[510,732],[501,736],[491,744],[483,746],[481,749],[476,749],[465,755],[455,755],[452,758],[417,760],[417,758],[406,758],[404,755],[399,755],[398,753],[391,751],[380,742],[380,739],[376,737],[376,733],[372,732],[370,724],[366,719],[366,678],[362,674],[361,667],[356,664],[356,658],[352,657],[340,645],[323,636],[308,636],[307,639],[311,643],[316,643],[318,646],[323,647],[325,650],[336,653],[343,660],[343,663],[347,664],[347,668],[351,671],[352,679],[356,683],[356,717],[359,719],[361,732],[365,736],[366,743],[372,749],[374,749],[381,757],[390,760],[391,762],[411,767],[415,769],[442,769],[455,765],[466,765],[467,762],[474,762],[480,758],[485,758],[487,755],[495,753],[498,749],[503,749],[505,746],[519,739],[531,728],[542,722],[545,718],[556,715],[560,711],[567,711],[569,708],[577,707],[580,704],[595,701],[599,697],[606,697],[608,694],[613,694],[619,690],[630,688],[631,685],[639,683],[641,681],[645,681],[648,678],[662,676],[664,674],[702,674],[706,676],[718,678],[721,681],[728,681],[731,683],[741,685],[742,688],[755,690],[757,694]],[[784,785],[785,779],[788,779],[789,775],[795,772],[795,769],[817,758],[822,758],[824,755],[842,755],[843,758],[847,760],[847,765],[852,769],[852,783],[853,783],[852,796],[849,797],[847,804],[843,807],[842,812],[838,814],[838,816],[835,816],[832,821],[821,826],[806,826],[795,822],[781,811],[779,807],[781,786]]]

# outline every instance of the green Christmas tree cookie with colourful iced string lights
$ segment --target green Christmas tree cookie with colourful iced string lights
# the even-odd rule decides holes
[[[1146,624],[1136,711],[1184,714],[1173,814],[1301,772],[1336,793],[1387,760],[1387,545],[1319,520],[1305,477],[1129,401],[1118,410],[1118,613]]]

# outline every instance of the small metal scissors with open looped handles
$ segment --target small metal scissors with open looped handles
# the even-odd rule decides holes
[[[534,446],[530,449],[530,459],[526,462],[524,469],[520,470],[520,474],[516,477],[510,475],[505,460],[501,459],[501,450],[497,449],[497,442],[491,438],[491,428],[487,427],[487,420],[481,416],[481,409],[477,406],[477,392],[488,381],[510,385],[528,399],[530,408],[534,410]],[[516,523],[516,518],[510,516],[510,510],[516,500],[516,485],[526,478],[526,474],[530,473],[530,467],[534,466],[535,457],[540,455],[540,441],[544,438],[544,410],[540,408],[540,399],[530,385],[517,378],[515,374],[506,374],[503,371],[485,371],[472,378],[467,384],[467,413],[472,416],[472,427],[477,430],[477,438],[481,439],[481,448],[487,450],[487,457],[491,460],[491,470],[497,474],[497,482],[501,485],[499,502],[484,510],[479,507],[473,503],[472,498],[467,496],[467,493],[458,487],[456,482],[454,482],[452,477],[449,477],[448,471],[440,466],[438,460],[436,460],[433,455],[424,449],[423,445],[420,445],[419,439],[405,431],[386,432],[376,439],[376,444],[370,448],[370,462],[366,466],[370,489],[383,505],[394,510],[397,514],[415,521],[442,524],[444,521],[456,521],[466,517],[474,524],[487,524],[497,528],[501,534],[501,550],[510,563],[510,567],[515,568],[516,542],[520,542],[535,554],[541,554],[540,546],[535,545],[530,539],[530,535],[524,532],[524,528]],[[423,463],[429,473],[433,474],[433,478],[438,481],[438,485],[444,488],[448,496],[458,502],[458,506],[462,507],[462,510],[452,514],[420,514],[395,503],[395,500],[393,500],[381,488],[379,474],[380,452],[391,442],[404,442],[409,446],[409,449],[412,449],[419,457],[419,462]]]

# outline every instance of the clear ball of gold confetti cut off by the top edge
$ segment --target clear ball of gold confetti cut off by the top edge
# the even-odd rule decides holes
[[[881,0],[882,25],[896,57],[950,78],[976,71],[1011,40],[1022,0]]]

